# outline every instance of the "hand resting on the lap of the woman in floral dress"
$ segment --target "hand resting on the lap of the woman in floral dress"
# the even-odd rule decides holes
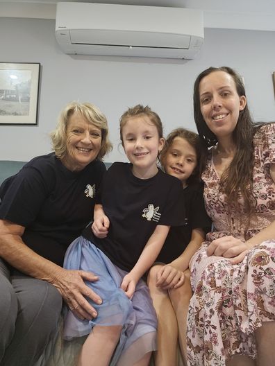
[[[244,256],[251,250],[251,245],[247,242],[240,241],[234,236],[223,236],[215,239],[208,246],[206,253],[208,256],[224,256],[230,258],[232,264],[237,264],[243,261]]]

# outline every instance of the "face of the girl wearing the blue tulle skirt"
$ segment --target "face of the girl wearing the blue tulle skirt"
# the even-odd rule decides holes
[[[158,136],[158,130],[149,117],[136,116],[128,119],[122,129],[125,153],[133,164],[134,173],[156,174],[156,159],[163,149],[164,139]]]

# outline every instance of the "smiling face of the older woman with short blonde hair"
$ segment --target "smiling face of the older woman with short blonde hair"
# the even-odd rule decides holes
[[[81,171],[96,159],[101,148],[101,130],[86,121],[80,113],[69,117],[67,152],[61,162],[70,171]]]

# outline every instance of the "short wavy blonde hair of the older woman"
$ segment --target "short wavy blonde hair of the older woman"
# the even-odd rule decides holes
[[[108,137],[108,123],[106,116],[92,103],[78,103],[73,101],[64,107],[60,112],[56,130],[50,134],[52,149],[58,158],[62,159],[65,157],[67,153],[66,141],[69,118],[75,113],[80,113],[88,123],[95,125],[101,130],[101,148],[97,155],[97,159],[101,160],[104,155],[112,150],[113,146]]]

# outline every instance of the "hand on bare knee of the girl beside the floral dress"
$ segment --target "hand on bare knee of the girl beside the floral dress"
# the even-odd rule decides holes
[[[181,287],[184,283],[184,273],[172,265],[163,265],[156,275],[156,286],[163,290]]]

